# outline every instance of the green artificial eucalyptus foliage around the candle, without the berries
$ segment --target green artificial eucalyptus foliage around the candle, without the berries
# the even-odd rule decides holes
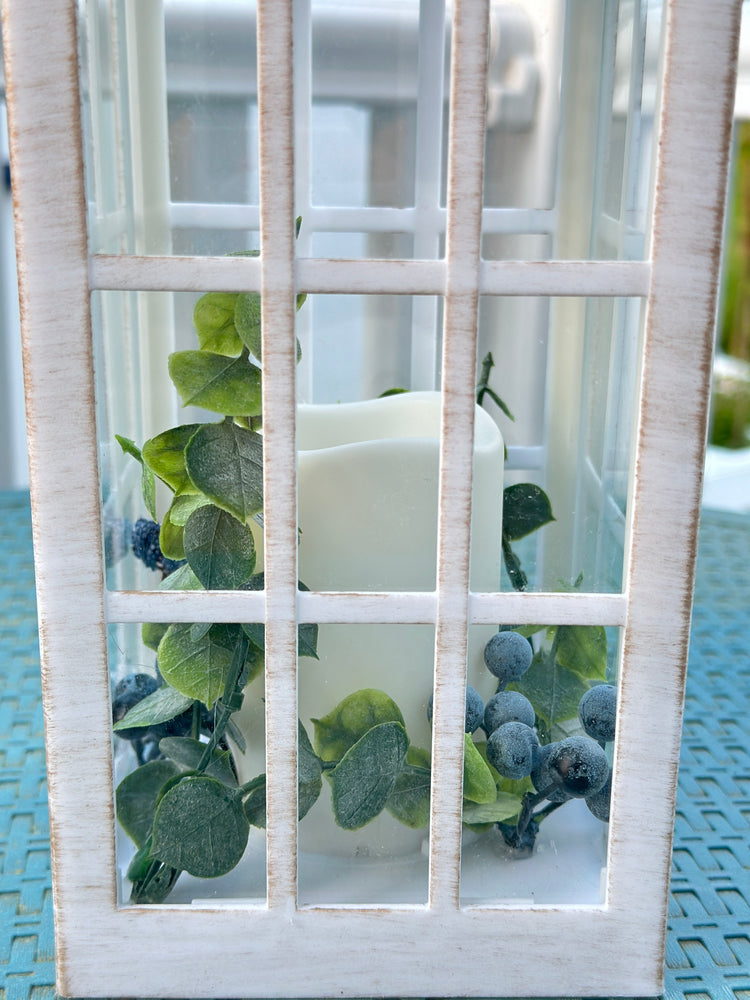
[[[298,297],[297,308],[304,298]],[[156,480],[171,494],[159,546],[162,557],[180,565],[160,586],[262,590],[263,573],[256,572],[263,511],[260,297],[209,292],[196,303],[193,319],[198,349],[172,354],[169,375],[184,405],[200,406],[219,420],[170,428],[142,448],[127,438],[117,440],[141,465],[143,501],[154,521]],[[512,419],[489,385],[493,364],[488,354],[477,401],[491,400]],[[504,491],[503,555],[516,589],[525,589],[527,580],[512,543],[552,520],[549,499],[539,487],[521,484]],[[306,589],[302,582],[299,586]],[[527,632],[542,638],[517,688],[532,701],[545,741],[575,716],[580,693],[591,680],[603,678],[606,635],[603,629],[571,626]],[[119,784],[116,807],[137,848],[127,872],[131,899],[155,903],[167,898],[182,871],[201,878],[231,871],[250,828],[265,827],[265,775],[240,784],[230,744],[245,749],[232,716],[242,706],[247,685],[262,673],[265,634],[262,623],[149,623],[142,638],[157,654],[163,683],[131,707],[114,730],[130,738],[142,730],[156,753],[145,759],[146,744],[137,741],[139,766]],[[300,656],[317,658],[317,641],[316,625],[299,626]],[[170,730],[179,720],[187,720],[189,733]],[[427,827],[430,754],[411,744],[401,711],[388,694],[353,692],[312,721],[312,739],[301,722],[298,731],[300,820],[325,779],[334,819],[345,830],[365,826],[383,810],[407,827]],[[467,827],[528,824],[530,789],[528,779],[502,778],[487,760],[486,743],[466,733]]]

